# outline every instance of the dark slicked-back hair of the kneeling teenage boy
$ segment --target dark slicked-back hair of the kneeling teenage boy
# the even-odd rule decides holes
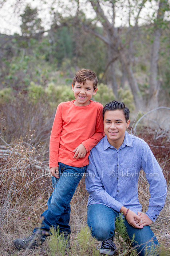
[[[107,103],[103,108],[103,120],[104,120],[104,114],[107,110],[123,110],[124,117],[126,119],[126,123],[129,120],[130,111],[129,108],[125,107],[124,103],[121,101],[111,101]]]

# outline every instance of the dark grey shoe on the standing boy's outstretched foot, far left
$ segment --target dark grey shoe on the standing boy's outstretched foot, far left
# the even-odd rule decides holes
[[[20,249],[34,249],[39,247],[43,242],[46,241],[46,236],[42,236],[41,234],[33,232],[27,238],[17,238],[13,241],[16,248]]]

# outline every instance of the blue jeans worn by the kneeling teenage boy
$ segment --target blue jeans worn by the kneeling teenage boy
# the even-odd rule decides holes
[[[115,219],[119,215],[119,212],[105,206],[104,204],[91,204],[87,208],[87,224],[91,229],[92,237],[95,237],[98,241],[105,241],[114,235]],[[150,246],[158,246],[158,240],[155,237],[150,226],[144,226],[143,229],[136,229],[124,222],[127,233],[130,239],[135,234],[133,246],[137,246],[137,252],[139,256],[145,255],[145,248],[149,250]],[[153,240],[153,241],[150,241]],[[159,253],[158,253],[159,255]]]

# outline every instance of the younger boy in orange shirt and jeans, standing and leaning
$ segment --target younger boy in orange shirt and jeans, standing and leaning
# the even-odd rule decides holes
[[[42,223],[28,238],[13,241],[17,249],[41,245],[50,229],[59,232],[70,246],[70,201],[88,165],[88,155],[104,136],[102,104],[91,101],[98,79],[90,69],[79,70],[72,81],[75,100],[58,105],[50,137],[50,172],[53,193],[48,209],[41,214]]]

